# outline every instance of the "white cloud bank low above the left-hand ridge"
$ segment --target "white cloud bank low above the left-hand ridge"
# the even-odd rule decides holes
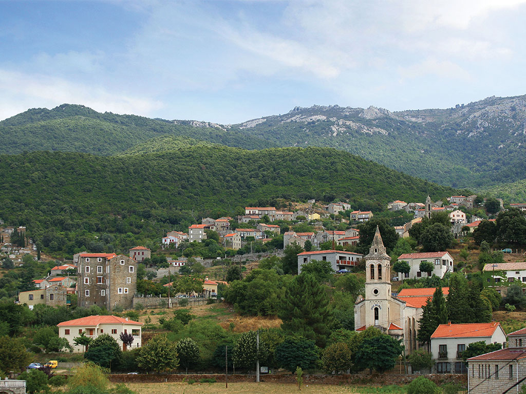
[[[0,90],[0,119],[28,108],[52,108],[62,103],[78,103],[102,112],[145,116],[163,106],[157,100],[130,96],[125,92],[109,92],[102,86],[6,69],[0,69]]]

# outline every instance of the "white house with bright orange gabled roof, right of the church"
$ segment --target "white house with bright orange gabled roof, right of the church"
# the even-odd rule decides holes
[[[505,346],[506,334],[500,323],[440,324],[431,335],[431,355],[435,374],[466,374],[462,353],[469,344],[484,341]]]

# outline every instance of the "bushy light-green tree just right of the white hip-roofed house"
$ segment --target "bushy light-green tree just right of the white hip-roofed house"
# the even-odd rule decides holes
[[[176,369],[179,366],[176,344],[166,334],[155,335],[141,347],[137,365],[158,374]]]

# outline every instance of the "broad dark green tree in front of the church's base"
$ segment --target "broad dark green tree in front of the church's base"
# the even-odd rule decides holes
[[[361,368],[374,369],[380,373],[394,368],[398,356],[403,351],[400,342],[401,340],[386,334],[363,340],[355,356],[356,365]]]

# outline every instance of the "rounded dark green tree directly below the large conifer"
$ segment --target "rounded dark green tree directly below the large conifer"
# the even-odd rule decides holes
[[[289,337],[276,346],[274,359],[280,368],[294,372],[296,368],[313,368],[318,361],[318,351],[313,340],[301,336]]]

